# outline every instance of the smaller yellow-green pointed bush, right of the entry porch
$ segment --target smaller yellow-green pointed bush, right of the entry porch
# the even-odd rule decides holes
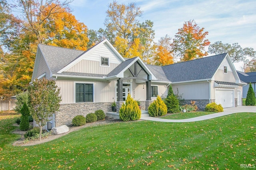
[[[148,107],[148,114],[152,117],[166,115],[167,113],[167,106],[164,104],[164,101],[157,96],[156,100],[150,104]]]

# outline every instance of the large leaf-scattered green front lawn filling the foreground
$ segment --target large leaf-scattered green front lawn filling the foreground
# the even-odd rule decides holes
[[[14,118],[0,120],[2,134]],[[3,125],[4,123],[4,125]],[[129,121],[86,127],[48,143],[2,140],[0,169],[240,169],[256,164],[256,113],[190,123]],[[2,142],[1,142],[2,143]]]

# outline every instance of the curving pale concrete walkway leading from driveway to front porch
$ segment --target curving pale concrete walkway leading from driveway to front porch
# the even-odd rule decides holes
[[[193,121],[212,119],[215,117],[230,115],[232,113],[241,113],[241,112],[256,113],[256,106],[238,106],[238,107],[224,108],[224,111],[220,112],[220,113],[213,113],[210,115],[203,115],[203,116],[193,117],[193,118],[189,118],[189,119],[160,119],[157,117],[150,117],[148,114],[142,114],[140,119],[141,120],[150,120],[150,121],[162,121],[162,122],[193,122]]]

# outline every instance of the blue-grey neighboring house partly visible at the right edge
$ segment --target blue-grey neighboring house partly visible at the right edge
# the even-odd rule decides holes
[[[246,98],[250,83],[252,84],[252,88],[254,90],[255,97],[256,97],[256,92],[255,92],[255,89],[256,89],[256,72],[237,71],[237,73],[238,73],[238,76],[239,76],[240,80],[247,83],[246,86],[243,86],[243,96],[242,96],[242,98]]]

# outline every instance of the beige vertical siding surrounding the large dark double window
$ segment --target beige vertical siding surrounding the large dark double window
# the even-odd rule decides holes
[[[56,80],[56,85],[60,87],[62,96],[61,104],[75,103],[75,83],[94,84],[94,102],[111,102],[115,99],[115,82],[81,81],[81,80]]]

